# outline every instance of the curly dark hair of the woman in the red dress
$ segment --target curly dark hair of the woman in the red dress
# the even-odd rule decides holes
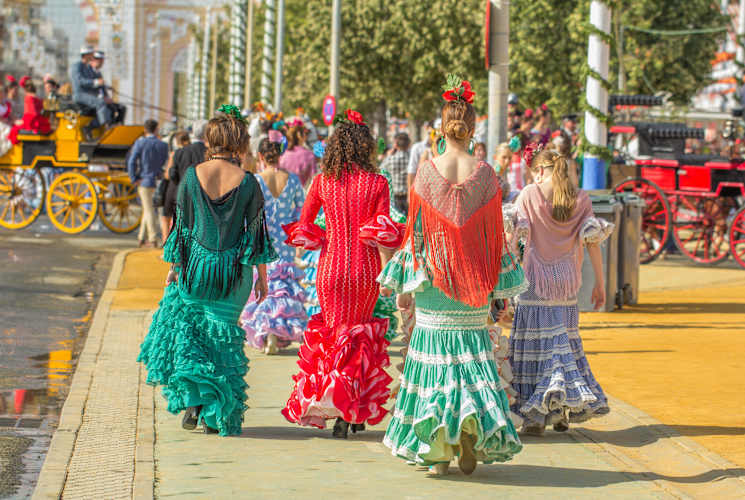
[[[376,152],[377,144],[367,125],[340,122],[326,144],[321,171],[336,179],[340,179],[343,172],[354,171],[355,165],[362,170],[377,173]]]

